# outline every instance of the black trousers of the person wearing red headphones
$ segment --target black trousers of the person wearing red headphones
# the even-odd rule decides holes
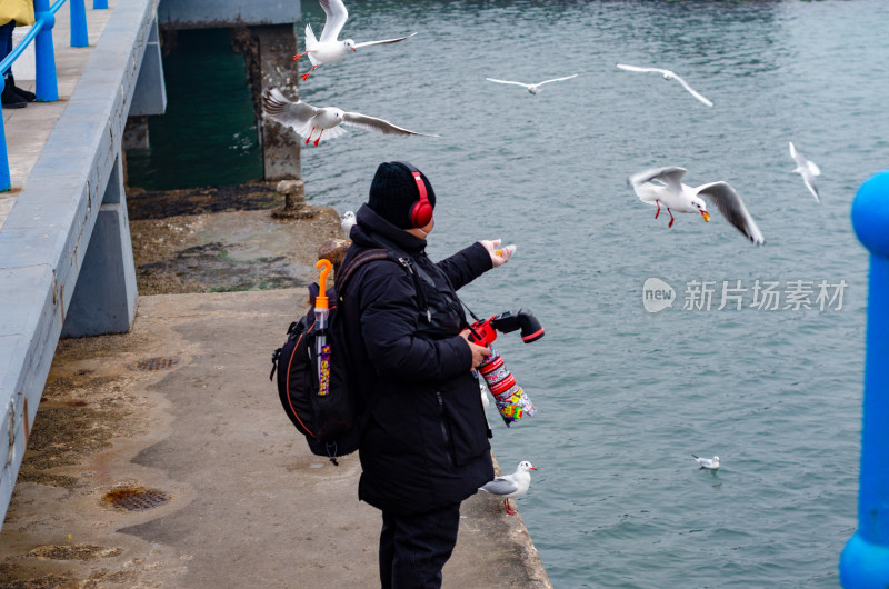
[[[416,516],[382,512],[380,582],[383,589],[439,588],[457,545],[460,503]]]

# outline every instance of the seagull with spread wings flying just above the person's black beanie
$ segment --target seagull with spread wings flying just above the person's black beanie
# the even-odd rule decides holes
[[[371,131],[377,131],[383,134],[421,134],[424,137],[438,137],[437,134],[417,133],[397,127],[389,121],[368,117],[360,112],[346,112],[336,107],[318,108],[312,107],[298,100],[291,102],[277,89],[271,88],[262,93],[262,110],[266,111],[272,120],[280,122],[287,127],[292,127],[297,134],[306,138],[306,144],[311,141],[314,131],[318,130],[318,137],[313,141],[318,147],[321,141],[321,136],[327,131],[328,139],[333,139],[346,132],[346,129],[340,127],[342,124],[351,124],[354,127],[363,127]]]

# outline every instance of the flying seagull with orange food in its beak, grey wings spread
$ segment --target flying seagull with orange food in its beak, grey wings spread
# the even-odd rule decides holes
[[[726,182],[710,182],[692,188],[682,183],[685,173],[685,168],[656,168],[631,176],[629,183],[642,202],[658,207],[655,219],[660,214],[661,204],[667,208],[667,212],[670,213],[670,224],[667,227],[673,226],[673,211],[698,212],[709,223],[710,213],[707,212],[707,203],[703,200],[707,199],[711,204],[716,204],[722,217],[747,236],[747,239],[757,246],[766,242],[759,227],[747,212],[747,207],[733,188]]]

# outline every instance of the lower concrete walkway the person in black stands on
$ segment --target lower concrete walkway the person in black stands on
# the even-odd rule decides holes
[[[142,297],[130,333],[61,340],[0,585],[379,587],[357,457],[312,456],[269,381],[304,305],[303,289]],[[108,502],[140,489],[157,507]],[[550,587],[521,517],[482,495],[463,503],[444,586]]]

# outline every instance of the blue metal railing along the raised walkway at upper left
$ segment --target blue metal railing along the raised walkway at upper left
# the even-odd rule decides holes
[[[0,61],[0,72],[12,66],[31,41],[34,41],[36,89],[39,102],[54,102],[59,100],[59,87],[56,78],[56,50],[52,47],[52,28],[56,26],[56,12],[66,0],[57,0],[49,6],[49,0],[34,0],[34,24],[18,46]],[[89,46],[87,32],[87,7],[84,0],[70,0],[71,10],[71,47]],[[92,8],[108,8],[108,0],[93,0]],[[0,76],[0,91],[3,90],[4,80]],[[0,192],[12,188],[9,176],[9,156],[7,154],[7,133],[3,129],[3,119],[0,117]]]

